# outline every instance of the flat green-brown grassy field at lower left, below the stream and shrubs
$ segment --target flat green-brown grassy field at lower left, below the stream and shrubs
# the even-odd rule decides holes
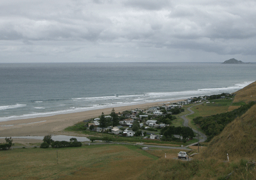
[[[137,179],[156,159],[121,144],[13,149],[0,151],[0,179]]]

